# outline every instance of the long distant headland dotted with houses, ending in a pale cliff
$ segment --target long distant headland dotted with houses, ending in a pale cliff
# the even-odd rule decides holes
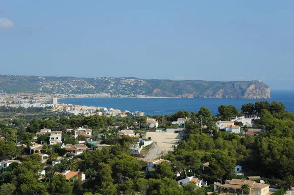
[[[259,81],[173,81],[160,79],[75,78],[0,75],[1,93],[102,94],[128,97],[270,98]]]

